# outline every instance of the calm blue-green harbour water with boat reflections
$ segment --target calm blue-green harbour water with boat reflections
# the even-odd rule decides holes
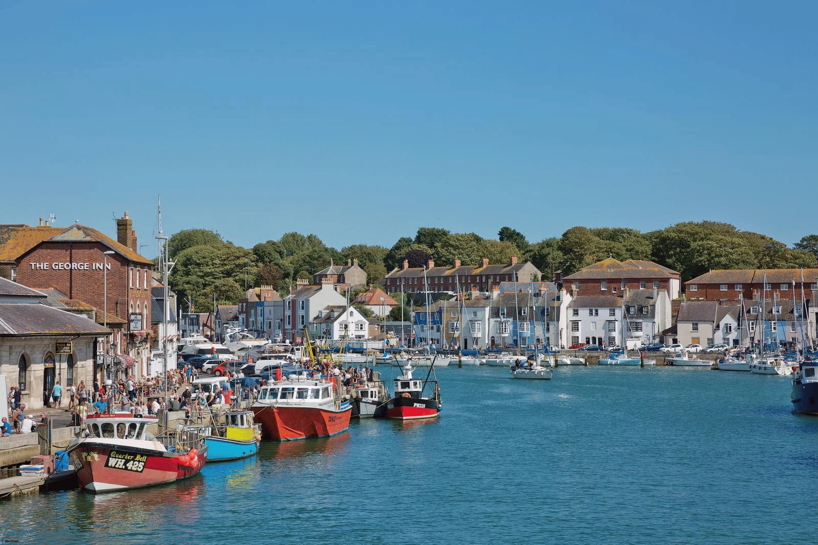
[[[390,368],[380,368],[387,378]],[[263,444],[178,485],[2,507],[23,543],[812,543],[818,419],[706,369],[438,371],[443,415]]]

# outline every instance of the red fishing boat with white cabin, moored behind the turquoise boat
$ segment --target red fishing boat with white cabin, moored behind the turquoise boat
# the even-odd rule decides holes
[[[262,386],[250,407],[262,436],[278,441],[335,436],[349,428],[353,409],[335,383],[298,377]]]

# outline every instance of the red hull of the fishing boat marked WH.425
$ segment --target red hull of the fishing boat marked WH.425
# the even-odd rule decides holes
[[[192,467],[179,454],[124,445],[83,440],[71,447],[79,488],[95,494],[164,485],[196,475],[205,465],[207,447],[200,450]],[[110,460],[110,461],[109,461]]]

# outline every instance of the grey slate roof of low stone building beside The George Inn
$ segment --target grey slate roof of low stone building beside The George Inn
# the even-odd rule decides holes
[[[82,315],[45,305],[0,304],[0,336],[104,335],[110,330]]]

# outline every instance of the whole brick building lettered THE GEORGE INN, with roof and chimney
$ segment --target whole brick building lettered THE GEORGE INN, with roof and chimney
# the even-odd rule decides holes
[[[153,262],[137,252],[128,212],[116,220],[116,240],[88,226],[40,223],[37,227],[0,225],[0,275],[29,288],[56,288],[71,300],[124,319],[125,327],[102,346],[107,349],[113,342],[115,354],[128,361],[128,372],[147,373]]]

